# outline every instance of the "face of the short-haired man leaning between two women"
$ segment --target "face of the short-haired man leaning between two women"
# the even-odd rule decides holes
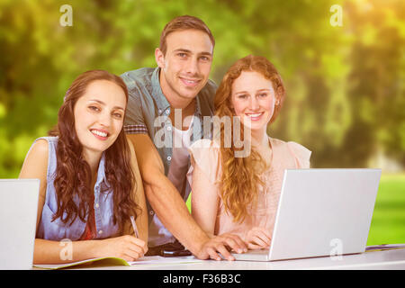
[[[174,31],[166,37],[166,55],[156,49],[160,85],[170,103],[190,102],[207,83],[213,46],[203,31]]]

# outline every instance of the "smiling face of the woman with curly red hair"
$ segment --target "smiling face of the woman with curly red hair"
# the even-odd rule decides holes
[[[266,133],[275,112],[275,91],[272,82],[255,71],[242,71],[231,86],[231,106],[243,125]]]

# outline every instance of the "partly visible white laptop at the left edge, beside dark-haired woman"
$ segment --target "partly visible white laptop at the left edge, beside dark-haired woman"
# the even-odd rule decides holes
[[[39,179],[0,179],[0,270],[32,268]]]

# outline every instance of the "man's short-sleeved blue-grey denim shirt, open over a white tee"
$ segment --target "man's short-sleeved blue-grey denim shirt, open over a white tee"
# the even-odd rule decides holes
[[[162,159],[165,175],[168,175],[173,155],[174,125],[169,118],[171,109],[159,81],[160,68],[142,67],[125,72],[121,75],[128,87],[129,100],[124,120],[124,130],[127,134],[148,134],[155,144]],[[196,105],[191,129],[191,143],[198,139],[211,139],[211,116],[214,113],[213,98],[217,85],[208,80],[207,84],[195,97]],[[175,112],[176,115],[176,112]],[[180,119],[182,120],[182,119]],[[190,166],[190,160],[188,161]],[[185,178],[185,175],[184,175]],[[190,184],[186,181],[184,202],[191,192]],[[149,246],[162,245],[174,241],[172,235],[156,219],[155,212],[147,202],[149,215]],[[155,218],[155,220],[154,220]],[[161,238],[154,240],[154,231]]]

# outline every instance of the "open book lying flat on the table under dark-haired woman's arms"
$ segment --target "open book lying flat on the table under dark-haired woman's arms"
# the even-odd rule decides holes
[[[101,257],[94,259],[87,259],[83,261],[77,261],[64,264],[34,264],[36,268],[42,269],[64,269],[77,266],[76,268],[85,267],[97,267],[97,266],[142,266],[142,265],[174,265],[174,264],[190,264],[190,263],[202,263],[203,260],[199,260],[193,256],[189,257],[160,257],[150,256],[141,257],[137,261],[128,262],[118,257]]]

